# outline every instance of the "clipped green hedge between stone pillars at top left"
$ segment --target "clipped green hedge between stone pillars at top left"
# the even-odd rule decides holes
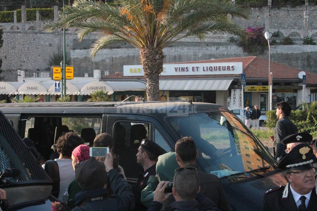
[[[36,20],[36,10],[39,10],[40,20],[53,20],[54,19],[54,9],[53,8],[34,8],[26,9],[26,20],[35,21]],[[22,10],[16,10],[16,21],[21,22]],[[14,11],[2,11],[0,12],[0,23],[14,22]]]

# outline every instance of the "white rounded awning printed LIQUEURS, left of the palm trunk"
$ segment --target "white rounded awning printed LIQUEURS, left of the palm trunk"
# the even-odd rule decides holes
[[[97,90],[106,90],[108,95],[115,91],[145,91],[146,83],[139,81],[94,81],[86,84],[80,91],[81,95],[89,95]]]

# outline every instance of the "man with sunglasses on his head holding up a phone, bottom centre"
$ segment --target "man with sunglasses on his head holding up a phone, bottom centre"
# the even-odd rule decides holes
[[[169,206],[173,211],[210,210],[220,211],[216,205],[200,193],[197,168],[183,167],[175,170],[173,179],[173,196],[176,202]],[[169,182],[162,181],[154,192],[153,202],[148,211],[159,211],[163,202],[171,195],[165,194],[165,188]]]

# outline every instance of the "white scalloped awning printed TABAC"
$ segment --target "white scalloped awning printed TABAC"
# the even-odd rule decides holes
[[[16,94],[18,95],[48,95],[49,88],[52,86],[52,83],[48,82],[28,82],[24,83]]]

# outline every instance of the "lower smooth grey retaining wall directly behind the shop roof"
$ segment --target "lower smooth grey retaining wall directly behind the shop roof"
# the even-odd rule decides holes
[[[163,52],[164,63],[249,56],[237,46],[177,46],[167,47]],[[78,77],[84,76],[84,73],[92,74],[93,69],[114,73],[123,71],[123,65],[139,65],[139,53],[140,51],[135,48],[102,49],[94,59],[91,59],[88,49],[72,50],[71,62],[74,64],[74,70],[80,70],[77,72]],[[261,57],[268,59],[268,54]],[[316,46],[272,46],[271,59],[300,70],[317,73]]]

